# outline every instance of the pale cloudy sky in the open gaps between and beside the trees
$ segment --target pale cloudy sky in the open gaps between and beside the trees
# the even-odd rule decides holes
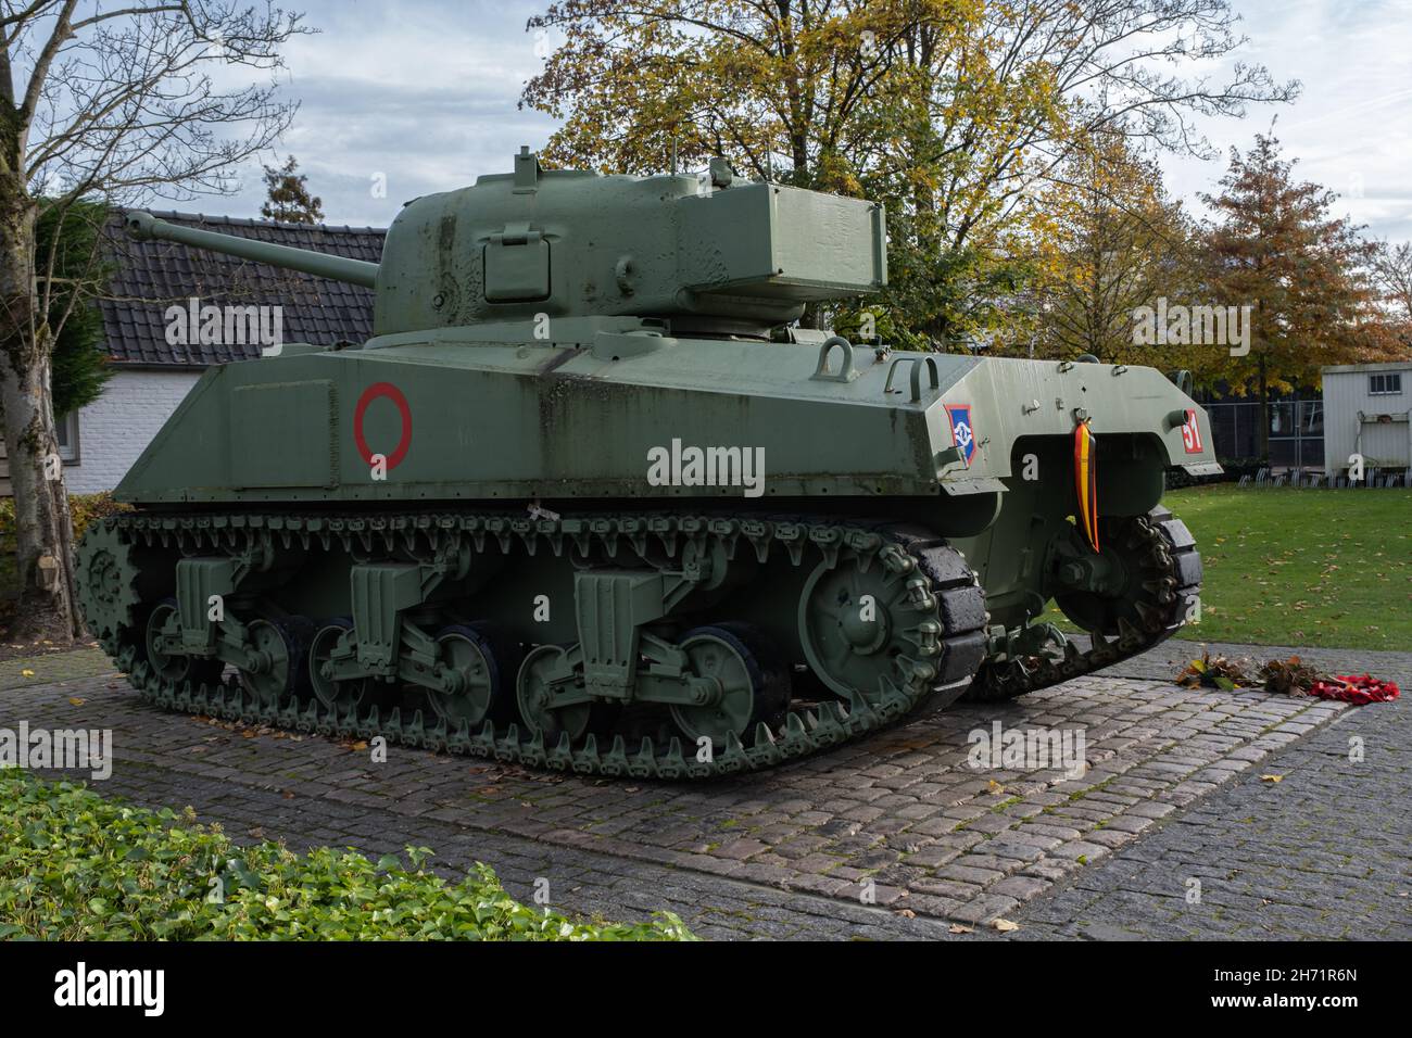
[[[288,48],[287,92],[302,107],[292,153],[330,222],[385,226],[407,199],[508,172],[521,144],[552,121],[515,107],[552,41],[525,32],[545,0],[288,0],[318,35]],[[1340,215],[1368,233],[1412,239],[1412,0],[1234,0],[1250,42],[1233,59],[1299,79],[1293,105],[1211,120],[1223,154],[1245,148],[1278,114],[1296,172],[1339,192]],[[1206,69],[1197,69],[1204,72]],[[1180,198],[1210,191],[1226,160],[1165,160]],[[371,189],[387,178],[385,198]],[[229,199],[182,203],[254,216],[258,169]]]

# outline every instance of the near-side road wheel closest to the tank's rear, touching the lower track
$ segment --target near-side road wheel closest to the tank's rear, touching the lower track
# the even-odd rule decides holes
[[[768,643],[744,624],[716,624],[686,633],[679,643],[692,675],[714,678],[720,698],[703,706],[672,706],[672,720],[693,743],[710,739],[723,748],[730,736],[747,740],[760,722],[775,729],[789,708],[789,672]]]

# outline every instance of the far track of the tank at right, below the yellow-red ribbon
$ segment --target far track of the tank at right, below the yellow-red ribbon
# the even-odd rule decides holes
[[[1154,508],[1128,521],[1120,535],[1128,556],[1147,571],[1142,596],[1135,603],[1139,623],[1120,620],[1114,638],[1090,636],[1086,652],[1069,638],[1062,658],[987,660],[966,691],[966,699],[1003,702],[1100,671],[1147,652],[1186,623],[1192,600],[1202,587],[1202,556],[1186,524],[1166,508]]]

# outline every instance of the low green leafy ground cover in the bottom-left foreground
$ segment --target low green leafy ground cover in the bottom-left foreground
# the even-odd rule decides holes
[[[0,939],[695,941],[679,918],[586,924],[511,898],[477,864],[449,883],[431,852],[240,846],[188,808],[148,811],[0,770]]]

